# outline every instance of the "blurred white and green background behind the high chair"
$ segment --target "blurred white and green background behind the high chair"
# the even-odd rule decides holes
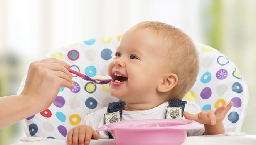
[[[0,0],[0,96],[17,94],[30,62],[47,53],[148,20],[181,28],[237,65],[250,96],[241,131],[255,135],[255,0]],[[18,122],[0,130],[0,145],[21,137]]]

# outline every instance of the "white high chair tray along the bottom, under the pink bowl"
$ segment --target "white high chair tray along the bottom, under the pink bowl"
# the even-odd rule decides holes
[[[187,137],[182,145],[255,145],[256,135],[225,136],[204,135]],[[35,142],[19,142],[13,145],[68,145],[66,140],[43,139]],[[90,145],[116,145],[114,139],[91,140]]]

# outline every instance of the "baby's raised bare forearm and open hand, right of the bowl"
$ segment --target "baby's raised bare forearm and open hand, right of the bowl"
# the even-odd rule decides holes
[[[225,132],[222,121],[232,105],[233,102],[231,101],[228,105],[221,106],[215,111],[207,110],[195,115],[184,112],[183,115],[186,119],[195,120],[204,124],[204,135],[222,134]]]

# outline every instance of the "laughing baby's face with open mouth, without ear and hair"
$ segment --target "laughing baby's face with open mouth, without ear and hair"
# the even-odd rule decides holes
[[[113,78],[110,93],[130,103],[155,99],[164,68],[162,41],[154,32],[147,28],[128,30],[108,66]]]

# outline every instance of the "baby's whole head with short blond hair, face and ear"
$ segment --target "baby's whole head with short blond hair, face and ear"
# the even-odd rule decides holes
[[[110,93],[129,103],[182,99],[199,69],[191,38],[171,25],[146,21],[121,37],[108,73]]]

